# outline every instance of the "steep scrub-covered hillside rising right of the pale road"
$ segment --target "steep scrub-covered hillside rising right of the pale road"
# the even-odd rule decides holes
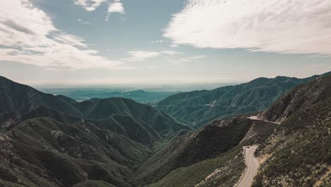
[[[331,183],[330,106],[331,76],[294,89],[262,113],[263,118],[284,122],[261,146],[259,154],[272,157],[262,165],[255,186]]]

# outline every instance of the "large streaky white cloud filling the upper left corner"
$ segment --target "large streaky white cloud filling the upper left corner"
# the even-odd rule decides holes
[[[122,65],[89,49],[82,38],[55,28],[50,17],[28,0],[2,2],[0,46],[0,61],[72,69]]]

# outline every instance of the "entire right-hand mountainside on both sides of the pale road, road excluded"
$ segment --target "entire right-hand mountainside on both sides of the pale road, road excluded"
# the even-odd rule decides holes
[[[216,120],[174,137],[141,164],[134,179],[160,187],[234,186],[245,169],[243,146],[259,145],[262,165],[254,186],[330,185],[330,108],[331,76],[315,78],[256,120]]]

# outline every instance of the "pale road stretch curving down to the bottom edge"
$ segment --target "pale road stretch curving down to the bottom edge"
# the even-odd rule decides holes
[[[257,174],[257,169],[260,167],[259,161],[254,156],[257,146],[245,146],[243,149],[245,154],[245,164],[247,167],[237,187],[250,187]]]

